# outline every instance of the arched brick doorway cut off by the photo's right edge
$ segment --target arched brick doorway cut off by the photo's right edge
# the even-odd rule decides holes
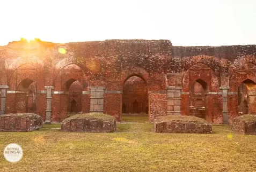
[[[239,114],[255,113],[254,99],[255,99],[256,83],[252,80],[243,81],[238,87],[238,110]]]

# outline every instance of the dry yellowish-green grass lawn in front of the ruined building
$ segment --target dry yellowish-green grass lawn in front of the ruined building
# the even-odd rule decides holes
[[[131,120],[131,119],[130,119]],[[0,150],[23,148],[0,171],[255,171],[256,136],[214,125],[213,134],[157,134],[150,123],[120,123],[114,133],[61,132],[60,124],[33,132],[0,132]]]

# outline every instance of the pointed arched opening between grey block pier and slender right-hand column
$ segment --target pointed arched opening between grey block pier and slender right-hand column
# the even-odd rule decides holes
[[[207,83],[196,80],[189,89],[190,115],[206,119],[206,92]]]

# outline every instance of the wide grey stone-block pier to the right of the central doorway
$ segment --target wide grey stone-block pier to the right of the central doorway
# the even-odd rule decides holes
[[[180,115],[180,86],[167,86],[167,115]]]

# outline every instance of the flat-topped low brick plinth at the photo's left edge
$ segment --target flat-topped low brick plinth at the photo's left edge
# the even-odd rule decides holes
[[[42,128],[42,118],[34,113],[0,115],[0,131],[33,131]]]

